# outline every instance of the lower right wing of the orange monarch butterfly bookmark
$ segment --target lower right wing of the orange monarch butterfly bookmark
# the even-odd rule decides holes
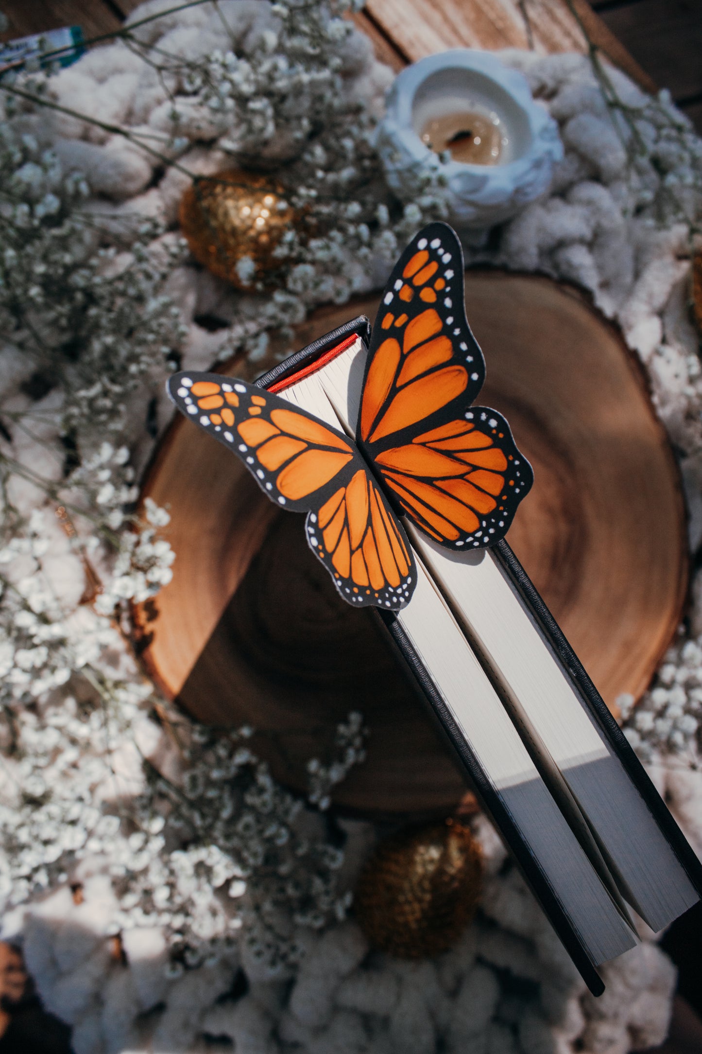
[[[487,407],[380,452],[376,464],[410,519],[459,551],[499,542],[534,482],[507,422]]]

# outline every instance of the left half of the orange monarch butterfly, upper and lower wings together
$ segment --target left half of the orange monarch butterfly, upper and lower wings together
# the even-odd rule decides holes
[[[273,502],[308,513],[309,548],[344,600],[392,610],[407,603],[417,581],[407,539],[346,435],[285,398],[216,373],[177,373],[167,390]]]

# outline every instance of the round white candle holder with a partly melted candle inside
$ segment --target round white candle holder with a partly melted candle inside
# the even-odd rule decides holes
[[[525,78],[489,52],[463,47],[398,75],[376,144],[403,201],[440,171],[459,228],[485,229],[514,216],[548,189],[563,157],[558,125]]]

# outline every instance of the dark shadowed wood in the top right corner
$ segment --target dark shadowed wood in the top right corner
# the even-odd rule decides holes
[[[702,92],[702,0],[638,0],[600,17],[674,99]]]

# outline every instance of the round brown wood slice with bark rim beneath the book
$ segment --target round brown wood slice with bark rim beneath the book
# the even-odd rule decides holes
[[[673,453],[619,333],[568,287],[466,273],[487,360],[481,403],[502,411],[535,469],[508,541],[607,704],[646,687],[678,624],[687,581]],[[327,308],[301,347],[378,297]],[[464,790],[379,624],[339,600],[237,458],[178,416],[143,494],[171,509],[173,582],[136,611],[149,671],[201,720],[254,725],[283,782],[363,713],[368,756],[336,800],[365,813],[450,808]]]

